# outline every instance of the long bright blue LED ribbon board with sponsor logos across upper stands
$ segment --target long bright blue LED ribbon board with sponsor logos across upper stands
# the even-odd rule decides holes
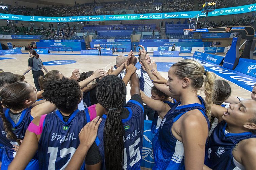
[[[220,8],[209,12],[208,17],[241,14],[256,11],[256,4]],[[98,16],[71,16],[71,17],[42,17],[24,16],[13,14],[0,14],[0,19],[34,22],[81,22],[81,21],[120,21],[120,20],[147,20],[147,19],[170,19],[170,18],[191,18],[196,15],[204,17],[206,13],[201,11],[173,12],[173,13],[149,13],[149,14],[124,14],[124,15],[98,15]]]

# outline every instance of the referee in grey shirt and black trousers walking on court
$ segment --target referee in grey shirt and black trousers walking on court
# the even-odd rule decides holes
[[[43,65],[42,60],[39,58],[39,55],[36,53],[35,50],[31,49],[29,50],[30,57],[29,58],[29,67],[24,71],[23,75],[28,73],[30,70],[32,70],[34,83],[36,86],[37,91],[40,91],[40,86],[38,83],[38,77],[43,76],[44,73],[42,71],[42,68],[45,70],[46,73],[48,73],[46,67]]]

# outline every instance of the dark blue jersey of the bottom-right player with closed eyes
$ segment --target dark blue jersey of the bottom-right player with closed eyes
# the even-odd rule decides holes
[[[227,123],[220,122],[209,137],[205,165],[213,170],[232,170],[236,166],[232,150],[240,141],[248,138],[256,138],[251,132],[245,133],[227,133],[225,134]]]

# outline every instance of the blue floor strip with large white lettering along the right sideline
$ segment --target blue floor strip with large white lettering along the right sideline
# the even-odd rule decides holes
[[[248,90],[250,92],[252,91],[253,86],[256,83],[255,77],[252,77],[252,76],[249,76],[249,75],[246,75],[246,74],[234,71],[234,70],[230,70],[230,69],[224,68],[222,66],[219,66],[219,65],[216,65],[213,63],[209,63],[204,60],[197,59],[197,58],[186,57],[186,56],[183,56],[183,58],[184,59],[193,59],[193,60],[198,61],[199,63],[201,63],[204,66],[205,70],[211,71],[211,72],[215,73],[216,75],[226,79],[227,81],[230,81],[230,82],[236,84],[237,86],[239,86],[245,90]]]

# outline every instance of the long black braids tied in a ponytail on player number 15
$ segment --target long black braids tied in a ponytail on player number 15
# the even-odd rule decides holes
[[[98,82],[96,95],[99,103],[108,110],[103,132],[106,169],[124,169],[125,132],[118,109],[126,97],[125,84],[117,76],[106,76]]]

